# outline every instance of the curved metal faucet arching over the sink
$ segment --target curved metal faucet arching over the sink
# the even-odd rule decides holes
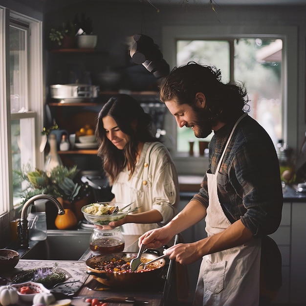
[[[58,215],[64,215],[65,210],[61,203],[55,199],[54,197],[51,197],[49,195],[36,195],[31,198],[29,198],[22,207],[21,211],[21,218],[18,220],[17,224],[17,234],[18,234],[18,239],[20,241],[20,246],[22,248],[28,248],[29,246],[29,231],[28,231],[28,221],[26,219],[27,217],[27,209],[28,207],[36,200],[38,199],[45,199],[48,201],[51,201],[54,205],[56,205],[59,209]]]

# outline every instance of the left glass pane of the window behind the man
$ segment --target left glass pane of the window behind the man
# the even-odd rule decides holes
[[[177,66],[187,64],[194,61],[198,64],[207,66],[216,66],[222,72],[222,82],[228,83],[230,80],[230,46],[227,41],[207,41],[195,40],[186,41],[179,40],[176,44]],[[194,132],[186,127],[176,128],[177,131],[177,152],[189,152],[189,141],[194,141],[194,153],[199,152],[198,141]],[[205,138],[210,141],[213,133]],[[201,139],[203,140],[203,139]]]

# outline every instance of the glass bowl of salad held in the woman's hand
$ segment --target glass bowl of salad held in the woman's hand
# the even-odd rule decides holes
[[[90,223],[108,225],[109,222],[123,219],[129,213],[136,211],[139,207],[132,207],[134,203],[97,202],[83,206],[81,211]]]

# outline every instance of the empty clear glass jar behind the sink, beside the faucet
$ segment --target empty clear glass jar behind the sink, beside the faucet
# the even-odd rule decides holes
[[[29,240],[46,240],[47,223],[45,212],[29,213],[28,215]]]

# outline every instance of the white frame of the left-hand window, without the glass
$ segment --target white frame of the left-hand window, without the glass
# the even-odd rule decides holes
[[[10,69],[9,69],[9,26],[10,19],[29,24],[27,46],[27,100],[28,110],[22,113],[10,112]],[[31,16],[0,6],[0,216],[14,209],[11,153],[11,120],[34,119],[33,167],[43,167],[44,153],[39,151],[44,116],[43,77],[43,22]]]

